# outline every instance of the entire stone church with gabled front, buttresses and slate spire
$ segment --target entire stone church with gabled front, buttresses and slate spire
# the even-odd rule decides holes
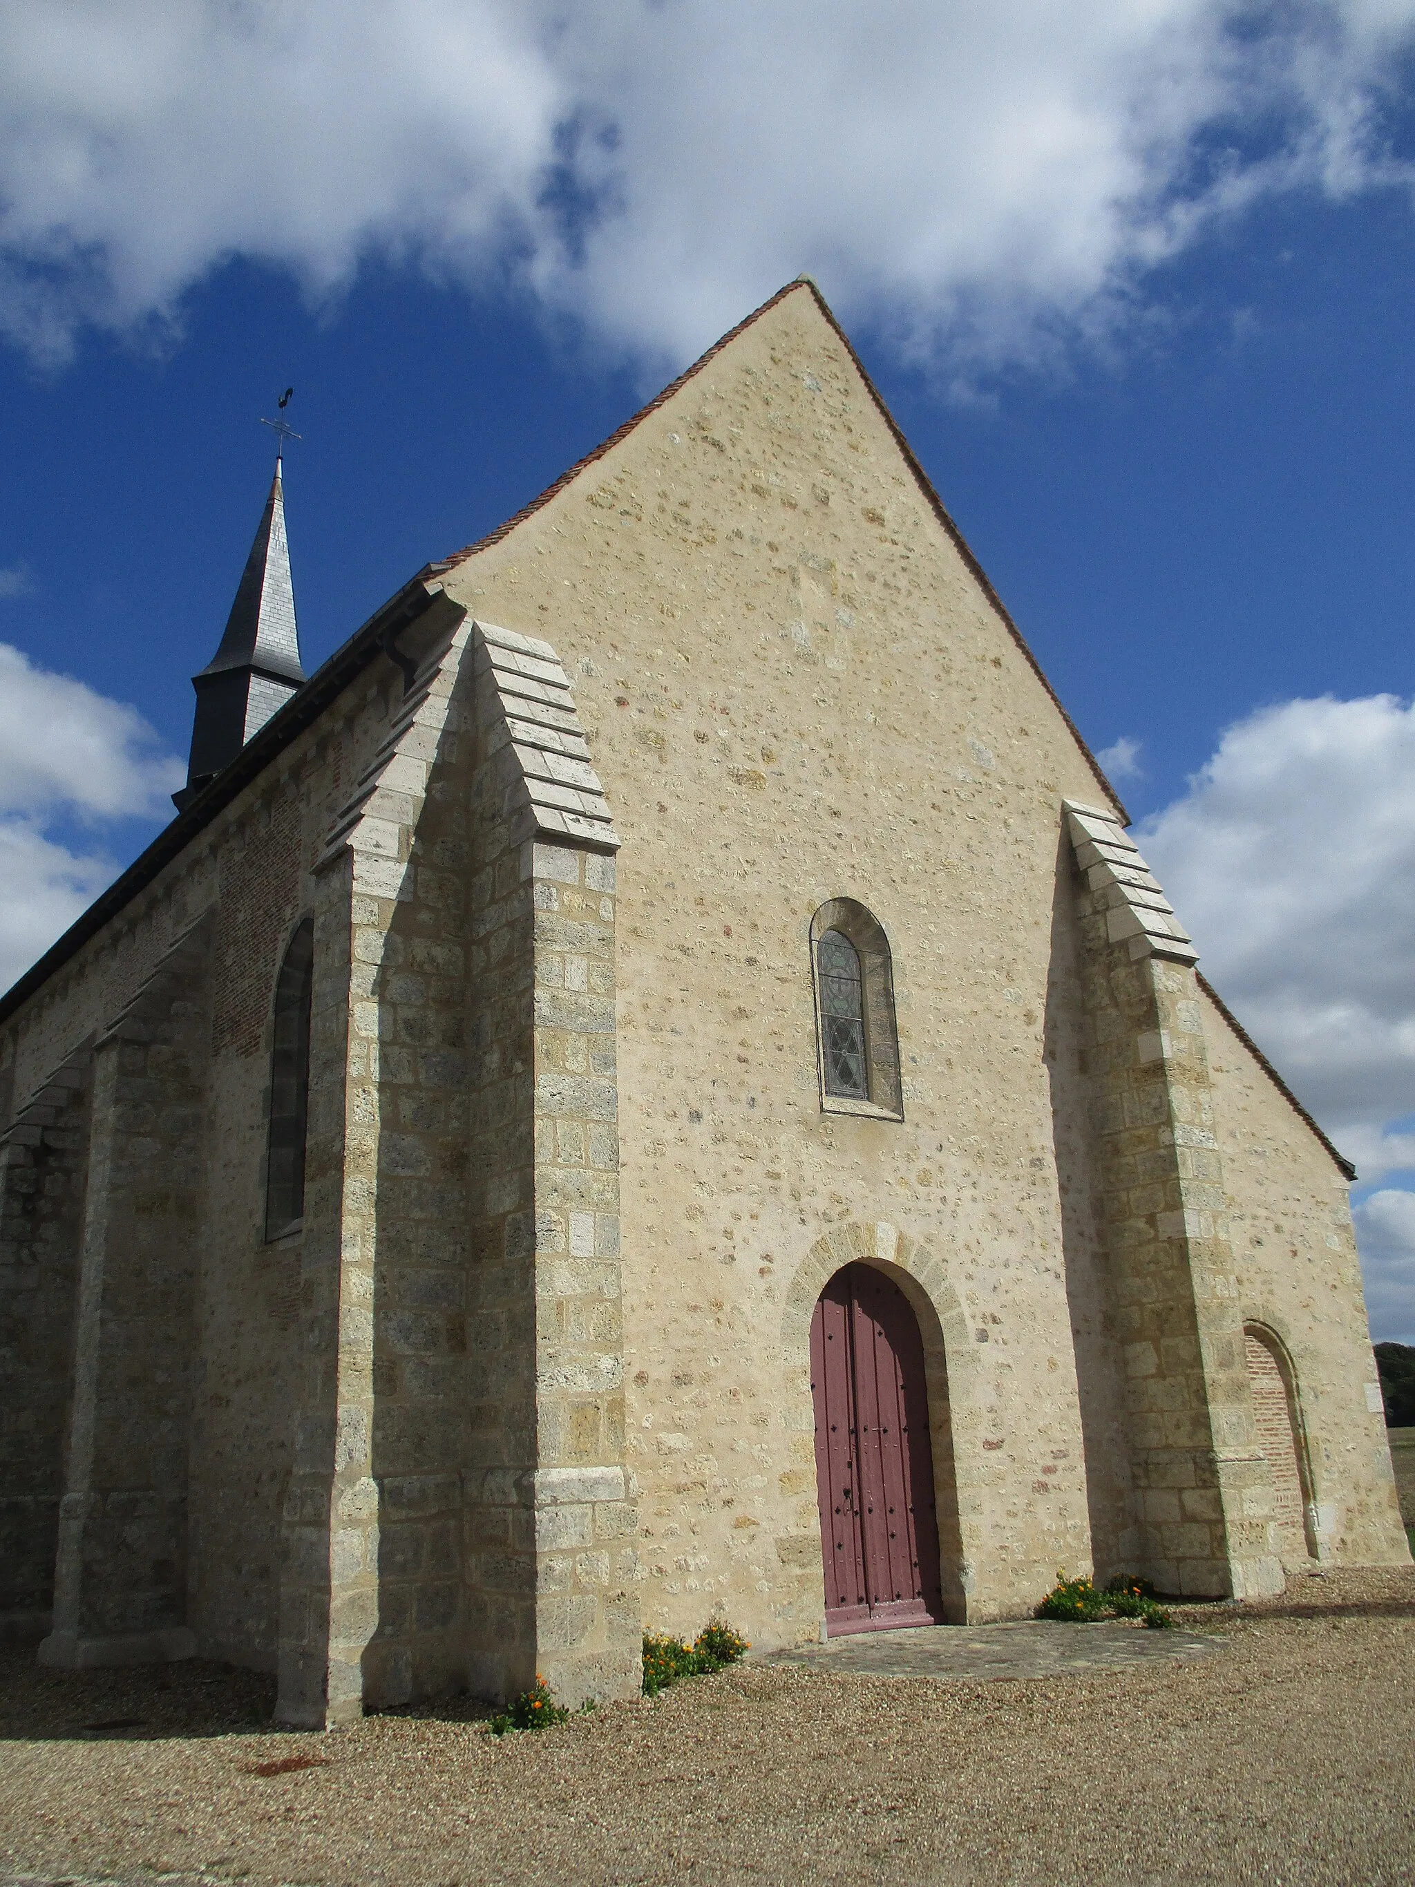
[[[9,1636],[326,1725],[1407,1559],[1351,1170],[809,283],[309,679],[279,500],[0,1006]]]

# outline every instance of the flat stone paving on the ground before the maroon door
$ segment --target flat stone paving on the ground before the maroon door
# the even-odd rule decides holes
[[[774,1651],[768,1662],[809,1664],[841,1678],[936,1678],[940,1683],[998,1683],[1017,1678],[1066,1678],[1211,1657],[1223,1638],[1198,1632],[1153,1632],[1136,1625],[1053,1625],[1017,1619],[1009,1625],[921,1625],[900,1632],[858,1632],[823,1645]]]

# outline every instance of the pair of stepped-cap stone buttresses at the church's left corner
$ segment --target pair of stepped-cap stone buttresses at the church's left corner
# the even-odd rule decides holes
[[[455,619],[317,866],[281,1698],[638,1687],[615,847],[547,643]]]

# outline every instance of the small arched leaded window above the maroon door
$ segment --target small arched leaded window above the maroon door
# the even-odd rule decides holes
[[[828,1113],[904,1119],[889,938],[853,898],[811,919],[821,1106]]]

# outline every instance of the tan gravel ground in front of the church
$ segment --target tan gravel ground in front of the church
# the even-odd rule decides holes
[[[277,1732],[249,1674],[9,1653],[0,1879],[1415,1881],[1415,1568],[1179,1619],[1226,1647],[994,1683],[749,1662],[500,1740],[457,1706]]]

